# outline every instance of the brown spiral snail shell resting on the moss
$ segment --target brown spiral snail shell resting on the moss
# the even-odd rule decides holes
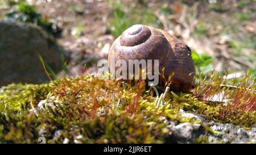
[[[167,31],[142,24],[127,28],[110,47],[109,68],[116,67],[112,61],[121,59],[159,60],[159,70],[164,68],[167,79],[171,76],[174,90],[189,91],[195,85],[191,49]]]

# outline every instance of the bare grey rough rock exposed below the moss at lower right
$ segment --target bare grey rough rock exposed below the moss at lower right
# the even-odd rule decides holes
[[[190,118],[192,121],[196,120],[208,125],[215,132],[205,132],[201,123],[169,121],[166,124],[168,124],[167,128],[170,133],[164,143],[194,143],[200,136],[207,136],[207,143],[256,143],[255,127],[246,130],[233,124],[207,122],[201,116],[183,110],[180,110],[179,114],[184,118]]]

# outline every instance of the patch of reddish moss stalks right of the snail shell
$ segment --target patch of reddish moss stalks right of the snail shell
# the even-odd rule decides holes
[[[210,77],[200,79],[193,95],[205,102],[215,98],[234,111],[255,112],[256,77],[252,78],[246,74],[239,83],[236,84],[235,81],[235,78],[233,82],[229,82],[226,79],[221,79],[219,74],[212,74]]]

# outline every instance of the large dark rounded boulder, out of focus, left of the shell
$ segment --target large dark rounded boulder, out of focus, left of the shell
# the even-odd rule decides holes
[[[57,73],[61,69],[63,49],[55,45],[40,27],[17,22],[0,21],[0,86],[9,83],[42,83],[48,80],[38,53]]]

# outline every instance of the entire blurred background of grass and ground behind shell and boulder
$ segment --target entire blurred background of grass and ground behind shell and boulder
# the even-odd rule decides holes
[[[104,45],[111,44],[133,24],[147,24],[167,30],[191,47],[197,76],[200,72],[208,74],[213,68],[222,76],[227,70],[228,79],[246,73],[256,76],[254,0],[3,0],[0,3],[1,18],[8,16],[35,23],[53,34],[61,29],[60,45],[79,53],[74,58],[79,61],[77,64],[88,55],[100,53]],[[112,36],[110,41],[97,40],[107,35]],[[81,40],[78,48],[70,48]]]

